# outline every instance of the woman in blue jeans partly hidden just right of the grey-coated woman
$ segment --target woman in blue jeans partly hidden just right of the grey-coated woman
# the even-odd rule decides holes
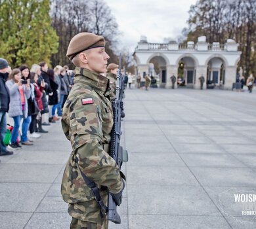
[[[20,66],[20,71],[22,73],[22,80],[24,80],[25,82],[30,79],[30,69],[28,69],[27,65],[21,65]],[[35,104],[34,102],[34,98],[35,98],[35,94],[34,94],[34,86],[33,84],[30,84],[30,91],[31,91],[31,96],[28,98],[28,116],[27,118],[23,119],[22,122],[22,136],[21,136],[21,143],[22,145],[33,145],[32,140],[28,139],[28,128],[30,127],[30,122],[32,120],[32,113],[35,113]]]

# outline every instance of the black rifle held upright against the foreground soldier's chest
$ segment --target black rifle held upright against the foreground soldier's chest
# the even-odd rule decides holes
[[[116,99],[112,101],[112,109],[114,115],[114,124],[111,131],[110,141],[110,156],[114,158],[117,166],[121,169],[123,162],[128,161],[128,154],[126,150],[120,145],[121,137],[121,118],[125,117],[123,112],[123,101],[121,101],[120,89],[121,89],[121,54],[119,56],[119,69],[117,70],[116,77]],[[121,218],[117,213],[117,205],[114,202],[110,192],[108,192],[108,220],[120,224]]]

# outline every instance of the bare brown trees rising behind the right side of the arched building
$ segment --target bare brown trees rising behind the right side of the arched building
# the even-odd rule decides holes
[[[188,29],[184,29],[189,40],[196,41],[206,35],[207,41],[225,43],[232,38],[240,43],[242,56],[240,66],[245,76],[256,70],[256,3],[255,0],[200,0],[189,11]]]

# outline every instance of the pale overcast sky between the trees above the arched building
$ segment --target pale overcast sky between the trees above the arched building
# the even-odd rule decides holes
[[[121,31],[120,48],[127,46],[131,52],[140,35],[148,43],[161,43],[165,37],[181,35],[187,26],[188,10],[196,0],[105,0],[116,17]]]

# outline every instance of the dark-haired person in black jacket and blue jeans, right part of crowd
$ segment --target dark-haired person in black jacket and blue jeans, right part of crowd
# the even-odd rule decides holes
[[[58,117],[55,116],[55,111],[56,111],[56,105],[58,104],[58,84],[54,81],[54,71],[53,69],[48,69],[47,70],[47,75],[49,76],[51,88],[53,91],[53,94],[50,96],[49,95],[49,100],[48,103],[50,105],[50,118],[49,122],[55,122],[59,120]]]

